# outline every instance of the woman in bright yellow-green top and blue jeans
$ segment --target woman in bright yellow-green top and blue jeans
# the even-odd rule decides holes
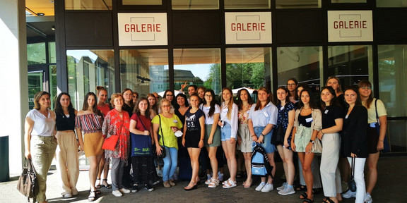
[[[177,168],[178,159],[178,143],[175,132],[182,128],[182,123],[178,116],[172,112],[171,101],[161,99],[161,113],[153,118],[153,134],[154,143],[157,155],[160,155],[162,150],[165,150],[164,168],[163,168],[163,185],[164,187],[175,186],[174,172]],[[160,137],[158,137],[160,134]]]

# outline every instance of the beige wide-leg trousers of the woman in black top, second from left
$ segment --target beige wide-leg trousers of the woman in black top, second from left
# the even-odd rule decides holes
[[[76,135],[71,132],[57,131],[58,147],[56,158],[58,161],[57,170],[61,175],[61,195],[67,193],[77,194],[76,183],[79,177],[78,144]]]

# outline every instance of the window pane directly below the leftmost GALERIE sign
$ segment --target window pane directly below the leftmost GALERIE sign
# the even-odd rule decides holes
[[[167,49],[131,49],[120,51],[121,90],[130,88],[138,97],[163,92],[168,85]]]

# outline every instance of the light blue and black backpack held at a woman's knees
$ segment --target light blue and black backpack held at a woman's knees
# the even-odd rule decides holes
[[[271,171],[273,171],[273,166],[270,166],[266,151],[257,143],[252,152],[252,175],[261,177],[271,176],[273,178]]]

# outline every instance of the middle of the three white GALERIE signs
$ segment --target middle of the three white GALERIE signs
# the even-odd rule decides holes
[[[271,44],[271,12],[225,13],[226,44]]]

